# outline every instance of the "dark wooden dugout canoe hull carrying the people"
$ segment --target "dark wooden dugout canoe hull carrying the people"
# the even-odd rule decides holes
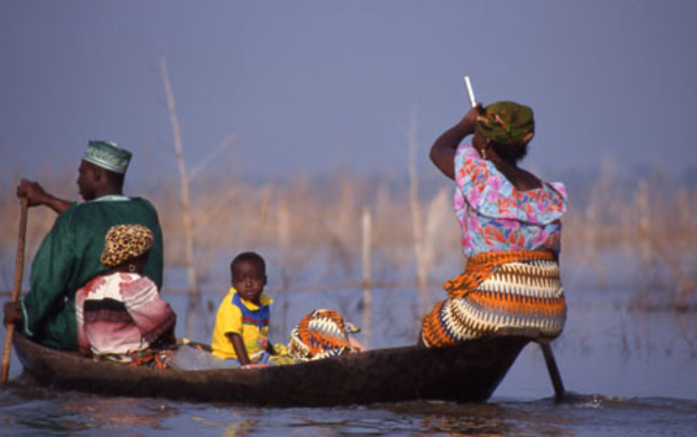
[[[69,390],[264,406],[332,406],[440,399],[486,401],[527,335],[477,339],[450,348],[384,348],[297,365],[255,369],[155,370],[96,362],[15,335],[24,370]]]

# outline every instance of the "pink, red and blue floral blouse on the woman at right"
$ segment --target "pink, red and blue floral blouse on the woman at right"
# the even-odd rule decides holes
[[[455,182],[454,208],[465,256],[507,250],[559,253],[560,218],[567,211],[564,184],[543,182],[519,191],[468,144],[455,154]]]

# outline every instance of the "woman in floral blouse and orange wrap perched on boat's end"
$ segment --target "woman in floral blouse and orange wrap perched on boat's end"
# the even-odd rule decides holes
[[[420,343],[457,344],[501,328],[557,337],[566,321],[559,277],[566,188],[518,167],[533,111],[515,102],[477,105],[436,139],[431,160],[457,184],[454,209],[467,257],[444,285],[448,298],[424,316]],[[474,134],[472,144],[459,146]]]

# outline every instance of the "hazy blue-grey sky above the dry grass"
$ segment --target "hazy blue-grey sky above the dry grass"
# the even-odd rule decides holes
[[[89,138],[176,181],[167,57],[192,166],[255,179],[405,171],[477,99],[532,106],[526,167],[697,168],[697,1],[0,2],[3,177],[77,167]]]

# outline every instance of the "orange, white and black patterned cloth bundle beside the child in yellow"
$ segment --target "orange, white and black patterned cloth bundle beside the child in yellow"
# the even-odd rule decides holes
[[[289,350],[300,361],[355,353],[358,350],[349,343],[348,334],[359,330],[333,309],[316,309],[291,330]]]

